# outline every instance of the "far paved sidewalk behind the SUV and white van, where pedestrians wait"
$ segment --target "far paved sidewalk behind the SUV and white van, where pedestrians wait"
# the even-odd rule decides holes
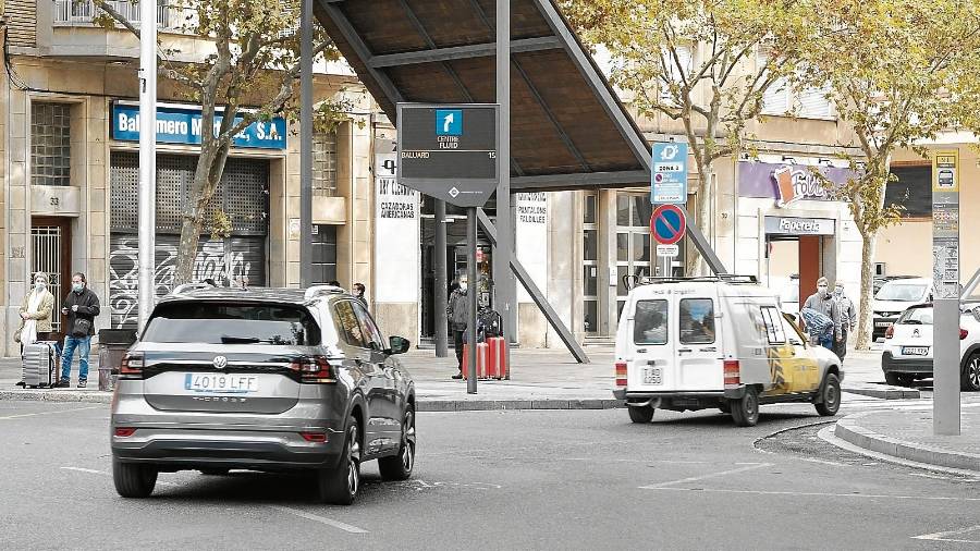
[[[613,400],[615,355],[612,346],[586,346],[590,364],[578,364],[564,350],[515,348],[511,379],[478,381],[477,394],[466,393],[466,381],[453,380],[456,358],[431,350],[412,350],[400,356],[415,380],[419,411],[456,409],[581,409],[622,407]],[[919,391],[887,387],[880,381],[880,352],[850,352],[845,364],[844,392],[879,399],[919,397]],[[77,377],[77,360],[72,370]],[[91,355],[87,389],[21,389],[21,363],[0,359],[0,400],[102,402],[111,393],[98,390],[98,355]],[[73,379],[74,384],[75,379]]]

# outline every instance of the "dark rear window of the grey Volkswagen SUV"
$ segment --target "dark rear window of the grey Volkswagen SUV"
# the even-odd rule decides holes
[[[143,340],[204,344],[320,344],[320,328],[301,307],[193,302],[161,304]]]

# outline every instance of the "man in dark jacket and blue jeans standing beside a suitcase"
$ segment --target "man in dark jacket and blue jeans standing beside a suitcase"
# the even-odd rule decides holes
[[[72,356],[78,348],[78,388],[88,383],[88,353],[95,334],[95,318],[99,315],[99,297],[85,284],[85,274],[72,276],[72,290],[64,297],[61,314],[68,316],[64,327],[64,352],[61,355],[61,380],[56,387],[68,388],[72,375]]]

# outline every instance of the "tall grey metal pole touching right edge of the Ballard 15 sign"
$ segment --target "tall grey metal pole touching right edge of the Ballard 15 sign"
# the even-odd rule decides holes
[[[497,308],[503,318],[507,343],[517,342],[517,289],[511,273],[514,256],[514,224],[511,219],[511,0],[497,0],[497,102],[500,106],[500,137],[497,184],[497,252],[493,255],[493,279]],[[511,347],[505,346],[506,365]]]

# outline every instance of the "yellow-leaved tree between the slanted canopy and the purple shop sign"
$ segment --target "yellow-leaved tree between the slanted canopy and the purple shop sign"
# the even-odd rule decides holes
[[[765,91],[795,69],[807,29],[797,2],[562,0],[583,38],[605,47],[610,79],[642,117],[683,124],[698,170],[696,220],[710,234],[713,163],[746,148]],[[705,273],[694,258],[688,272]]]

